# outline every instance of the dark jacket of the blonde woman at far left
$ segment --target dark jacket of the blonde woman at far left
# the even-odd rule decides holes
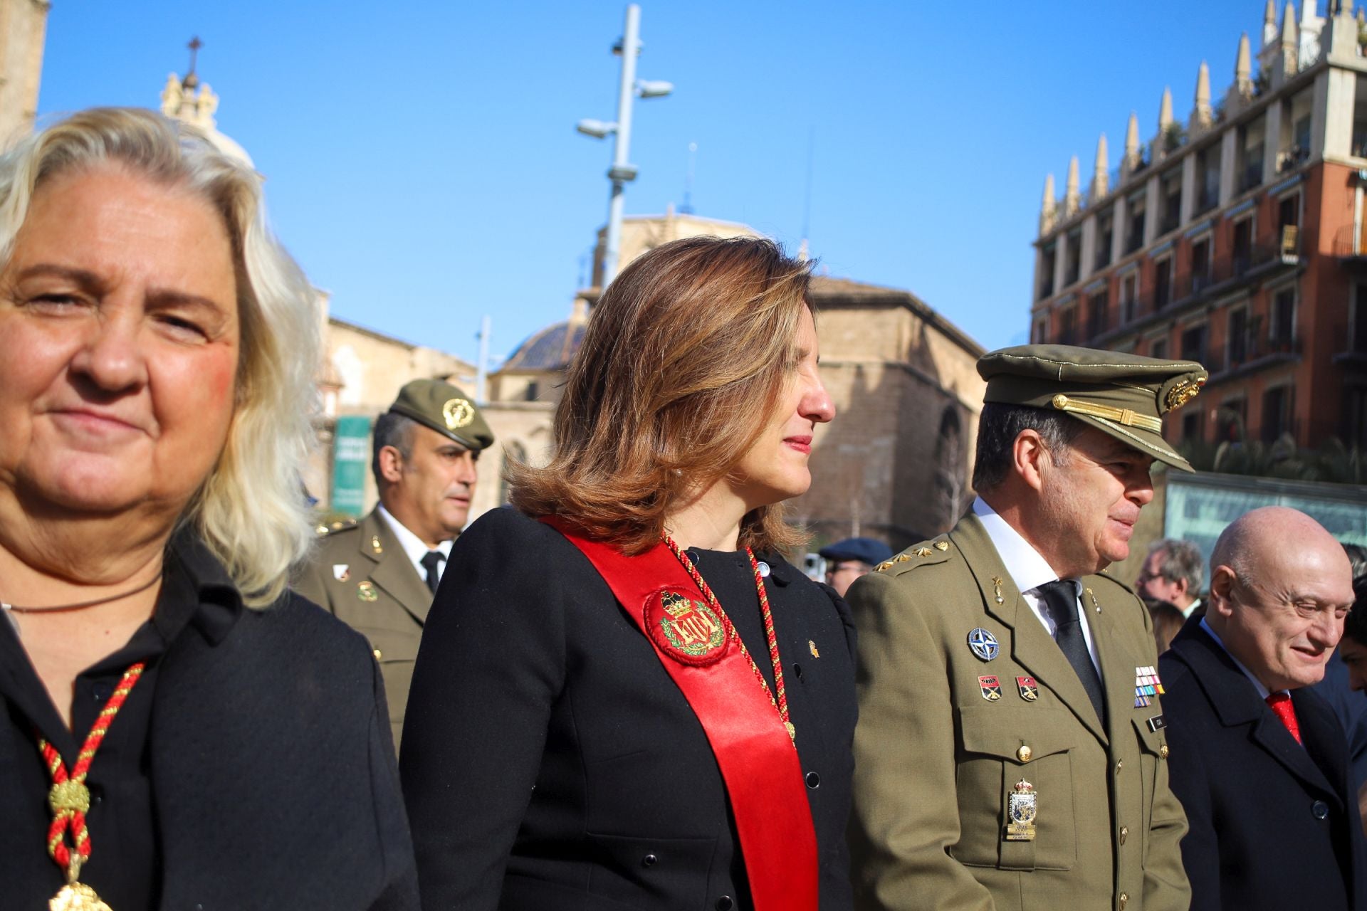
[[[200,602],[160,657],[146,727],[157,907],[417,908],[384,688],[366,641],[293,593],[245,609],[223,567],[187,535],[172,553],[168,572],[189,574]],[[0,736],[0,819],[19,815],[7,815],[4,785],[33,777],[37,759],[30,736]],[[42,791],[31,792],[41,802]],[[126,835],[92,829],[93,862],[101,844],[107,856]],[[40,907],[31,896],[45,901],[59,877],[41,833],[19,839],[0,826],[0,907]]]

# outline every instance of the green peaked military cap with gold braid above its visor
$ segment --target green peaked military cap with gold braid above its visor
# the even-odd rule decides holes
[[[1162,417],[1196,397],[1206,369],[1195,361],[1065,344],[1023,344],[977,359],[983,402],[1058,410],[1184,471],[1195,471],[1163,440]]]

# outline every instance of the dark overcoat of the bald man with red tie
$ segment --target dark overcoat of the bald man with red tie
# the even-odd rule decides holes
[[[1196,617],[1158,667],[1192,910],[1367,908],[1357,795],[1329,705],[1292,691],[1299,746]]]

